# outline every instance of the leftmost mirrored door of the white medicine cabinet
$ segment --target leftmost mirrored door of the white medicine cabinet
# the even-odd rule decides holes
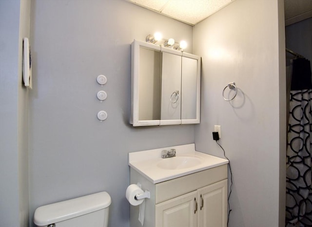
[[[135,40],[131,45],[131,118],[133,126],[159,125],[160,47]]]

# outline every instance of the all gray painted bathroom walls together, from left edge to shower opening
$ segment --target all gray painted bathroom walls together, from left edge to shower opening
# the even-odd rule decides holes
[[[27,180],[19,178],[22,170],[27,172],[27,161],[19,160],[27,155],[19,157],[19,147],[25,146],[27,139],[20,141],[17,131],[27,125],[17,119],[27,116],[27,111],[17,106],[25,106],[27,99],[17,100],[23,96],[19,91],[24,91],[16,59],[20,54],[19,6],[17,1],[9,2],[0,1],[0,180],[5,183],[0,189],[0,225],[22,226],[17,219],[27,211],[20,213],[18,209],[27,199],[19,197],[19,184]],[[283,66],[278,59],[283,58],[281,50],[285,47],[277,32],[282,26],[276,17],[280,10],[277,1],[251,2],[236,0],[195,26],[195,41],[205,45],[195,44],[194,48],[195,54],[203,57],[202,122],[194,129],[191,125],[133,128],[128,124],[130,43],[134,38],[144,40],[156,30],[166,38],[191,43],[191,26],[126,1],[33,0],[30,221],[41,205],[106,190],[113,199],[110,226],[128,226],[129,205],[124,198],[129,184],[127,153],[192,143],[195,130],[197,150],[222,156],[211,139],[213,125],[219,124],[220,143],[234,173],[230,226],[277,226],[278,190],[282,190],[278,181],[283,175],[279,152],[283,151],[284,138],[279,123],[284,116],[279,110],[285,109],[280,98],[285,85]],[[270,10],[264,12],[266,7]],[[3,38],[8,48],[2,49]],[[223,50],[222,59],[209,56],[214,48]],[[108,77],[103,87],[108,99],[103,103],[96,98],[102,89],[95,82],[99,74]],[[240,90],[228,103],[220,95],[232,81]],[[98,122],[96,113],[102,109],[109,118]]]

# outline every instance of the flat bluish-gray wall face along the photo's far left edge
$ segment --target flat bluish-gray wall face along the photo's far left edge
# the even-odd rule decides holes
[[[19,12],[20,3],[0,1],[0,179],[5,182],[0,187],[1,226],[19,226],[17,75],[20,18],[16,17]]]

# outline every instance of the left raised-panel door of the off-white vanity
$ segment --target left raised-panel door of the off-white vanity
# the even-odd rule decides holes
[[[156,205],[156,227],[196,227],[197,192],[193,191]]]

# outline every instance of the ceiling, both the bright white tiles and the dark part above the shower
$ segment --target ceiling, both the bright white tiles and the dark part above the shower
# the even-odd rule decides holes
[[[195,25],[234,0],[128,0],[187,24]],[[312,17],[312,0],[285,0],[286,25]]]

